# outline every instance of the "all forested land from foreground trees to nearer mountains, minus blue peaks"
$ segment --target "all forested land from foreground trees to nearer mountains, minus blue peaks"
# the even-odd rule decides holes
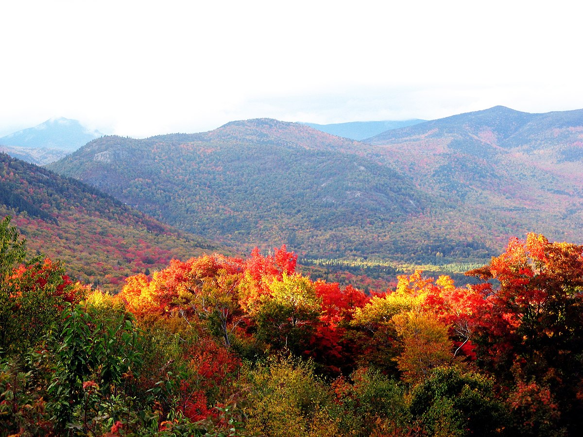
[[[579,435],[582,135],[495,107],[0,154],[0,437]]]

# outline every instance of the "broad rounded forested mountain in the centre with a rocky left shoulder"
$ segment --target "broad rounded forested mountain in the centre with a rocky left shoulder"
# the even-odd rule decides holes
[[[256,119],[192,135],[104,137],[50,168],[241,252],[285,243],[303,259],[434,263],[482,262],[494,253],[470,232],[473,218],[461,220],[459,208],[420,191],[367,149],[308,126]]]

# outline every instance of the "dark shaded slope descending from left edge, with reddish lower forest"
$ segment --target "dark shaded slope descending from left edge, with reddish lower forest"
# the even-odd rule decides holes
[[[120,290],[129,274],[153,272],[216,245],[178,232],[71,178],[0,153],[0,217],[13,216],[33,251],[64,260],[73,279]]]

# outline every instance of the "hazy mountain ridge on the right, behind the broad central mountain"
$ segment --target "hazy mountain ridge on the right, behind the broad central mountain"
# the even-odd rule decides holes
[[[505,107],[454,115],[366,141],[428,193],[553,239],[583,241],[583,110]],[[494,221],[494,220],[491,220]]]

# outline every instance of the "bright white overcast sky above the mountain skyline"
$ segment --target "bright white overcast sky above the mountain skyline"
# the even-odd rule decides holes
[[[0,5],[0,136],[143,138],[269,117],[583,108],[583,3],[42,0]]]

